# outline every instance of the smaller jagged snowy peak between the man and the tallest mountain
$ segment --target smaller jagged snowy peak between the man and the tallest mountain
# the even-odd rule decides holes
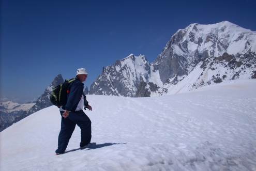
[[[154,74],[145,56],[130,54],[122,60],[117,60],[114,65],[104,67],[102,74],[91,85],[89,93],[134,97],[139,84],[151,82]]]

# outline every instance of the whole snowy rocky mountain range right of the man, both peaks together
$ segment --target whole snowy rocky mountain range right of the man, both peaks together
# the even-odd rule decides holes
[[[90,94],[148,97],[256,78],[256,32],[228,21],[179,29],[153,63],[129,55],[103,68]],[[193,72],[192,72],[193,71]]]

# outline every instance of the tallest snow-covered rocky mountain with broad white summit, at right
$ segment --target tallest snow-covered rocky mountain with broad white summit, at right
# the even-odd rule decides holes
[[[158,93],[255,78],[255,52],[256,32],[228,21],[190,24],[172,36],[155,61],[154,67],[164,83]]]

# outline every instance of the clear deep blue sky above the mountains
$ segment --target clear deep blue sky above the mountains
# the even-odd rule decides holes
[[[224,20],[256,30],[256,1],[3,0],[1,97],[38,98],[54,77],[86,68],[90,86],[130,53],[153,62],[179,28]]]

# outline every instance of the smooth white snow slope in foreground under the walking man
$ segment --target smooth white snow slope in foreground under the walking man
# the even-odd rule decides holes
[[[44,108],[0,133],[1,170],[256,170],[256,80],[233,80],[183,94],[88,95],[90,149],[80,130],[55,156],[61,116]]]

